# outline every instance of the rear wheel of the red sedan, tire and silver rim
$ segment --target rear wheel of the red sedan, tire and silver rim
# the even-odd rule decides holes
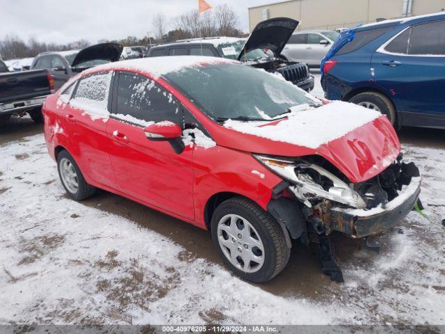
[[[95,193],[95,187],[86,183],[71,154],[63,150],[57,155],[57,170],[63,188],[74,200],[84,200]]]

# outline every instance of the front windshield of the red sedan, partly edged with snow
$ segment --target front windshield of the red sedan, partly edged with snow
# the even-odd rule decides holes
[[[270,120],[284,117],[291,106],[315,104],[277,75],[236,63],[188,67],[164,77],[216,120]]]

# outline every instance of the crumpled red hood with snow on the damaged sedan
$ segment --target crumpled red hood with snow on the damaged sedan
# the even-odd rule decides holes
[[[401,150],[386,116],[347,102],[332,102],[271,122],[227,121],[211,132],[218,143],[236,150],[282,157],[320,155],[351,182],[382,172]]]

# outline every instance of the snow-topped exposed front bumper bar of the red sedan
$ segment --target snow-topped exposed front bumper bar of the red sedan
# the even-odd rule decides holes
[[[419,198],[421,177],[412,177],[410,184],[385,207],[369,210],[332,207],[321,215],[325,226],[351,237],[366,237],[394,228],[414,207]]]

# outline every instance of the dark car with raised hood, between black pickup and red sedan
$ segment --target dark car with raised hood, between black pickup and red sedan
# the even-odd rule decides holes
[[[49,51],[38,54],[31,64],[31,70],[48,70],[54,78],[56,89],[68,79],[87,68],[118,61],[122,54],[122,45],[102,43],[81,50]]]

